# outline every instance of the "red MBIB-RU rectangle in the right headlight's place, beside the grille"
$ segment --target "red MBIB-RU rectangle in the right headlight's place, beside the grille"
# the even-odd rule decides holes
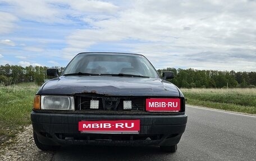
[[[150,98],[146,99],[146,111],[152,112],[179,112],[179,98]]]

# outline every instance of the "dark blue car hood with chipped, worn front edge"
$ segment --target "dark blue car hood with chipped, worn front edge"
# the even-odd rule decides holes
[[[95,93],[117,96],[180,96],[177,87],[158,78],[118,76],[61,76],[49,80],[38,94]]]

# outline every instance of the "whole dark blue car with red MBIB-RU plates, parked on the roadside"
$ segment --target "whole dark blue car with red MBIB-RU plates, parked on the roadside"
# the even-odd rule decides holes
[[[185,98],[147,58],[127,53],[79,53],[58,75],[48,69],[35,95],[36,146],[157,145],[175,152],[185,131]]]

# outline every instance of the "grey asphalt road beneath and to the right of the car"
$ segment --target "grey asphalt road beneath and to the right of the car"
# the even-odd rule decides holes
[[[65,146],[52,160],[256,160],[256,117],[186,106],[174,154],[158,147]]]

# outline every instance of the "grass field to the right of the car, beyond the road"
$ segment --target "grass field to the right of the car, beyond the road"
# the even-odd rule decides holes
[[[181,89],[186,103],[256,114],[256,89]]]

